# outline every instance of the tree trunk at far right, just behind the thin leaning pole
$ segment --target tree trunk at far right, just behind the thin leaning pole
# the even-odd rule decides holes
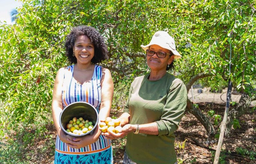
[[[229,136],[230,134],[233,120],[243,115],[245,111],[249,109],[250,104],[251,97],[249,96],[249,94],[243,93],[242,96],[240,97],[238,105],[228,113],[227,127],[225,130],[226,136]]]

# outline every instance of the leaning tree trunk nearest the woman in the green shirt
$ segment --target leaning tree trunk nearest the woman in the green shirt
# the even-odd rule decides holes
[[[205,130],[207,131],[208,135],[214,135],[214,128],[209,118],[206,115],[204,115],[204,113],[202,113],[201,110],[193,106],[193,103],[189,99],[187,99],[187,109],[200,121],[200,123],[204,126]]]

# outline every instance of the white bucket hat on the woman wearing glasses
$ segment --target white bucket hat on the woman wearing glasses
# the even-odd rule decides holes
[[[165,31],[156,32],[148,45],[141,45],[140,47],[146,51],[151,45],[158,45],[162,48],[170,50],[174,54],[174,59],[181,58],[181,55],[178,53],[178,51],[176,51],[174,39]]]

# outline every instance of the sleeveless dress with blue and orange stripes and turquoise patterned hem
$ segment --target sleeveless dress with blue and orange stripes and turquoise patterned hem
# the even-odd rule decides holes
[[[65,108],[72,102],[85,101],[99,112],[101,103],[102,67],[95,65],[92,80],[81,85],[73,78],[74,65],[65,68],[62,87],[62,104]],[[67,146],[57,135],[54,164],[112,164],[113,155],[109,139],[99,139],[86,147],[75,149]]]

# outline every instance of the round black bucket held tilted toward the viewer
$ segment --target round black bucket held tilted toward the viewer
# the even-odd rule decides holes
[[[69,120],[72,120],[73,117],[83,117],[84,120],[92,121],[94,127],[87,133],[83,134],[72,134],[66,131],[67,124],[69,123]],[[73,102],[66,106],[62,112],[60,113],[60,127],[61,129],[68,135],[74,136],[74,137],[82,137],[85,135],[92,135],[95,129],[98,126],[99,122],[99,114],[94,106],[87,102]]]

